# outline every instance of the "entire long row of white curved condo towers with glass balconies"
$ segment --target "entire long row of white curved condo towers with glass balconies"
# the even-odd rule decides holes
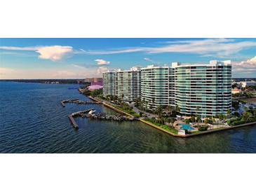
[[[128,102],[140,97],[147,109],[179,106],[181,114],[202,118],[227,114],[231,109],[229,60],[212,60],[209,64],[173,62],[171,67],[149,65],[112,73],[103,73],[103,95],[117,95]]]

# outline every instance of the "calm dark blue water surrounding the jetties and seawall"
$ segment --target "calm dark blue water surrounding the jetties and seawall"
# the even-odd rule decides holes
[[[0,153],[256,153],[256,125],[191,138],[176,138],[140,122],[109,122],[68,114],[97,104],[66,104],[61,100],[89,100],[77,85],[0,81]]]

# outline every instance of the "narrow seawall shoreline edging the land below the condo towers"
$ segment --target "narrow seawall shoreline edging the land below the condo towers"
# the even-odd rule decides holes
[[[130,117],[135,118],[135,116],[133,116],[131,114],[128,114],[125,111],[121,111],[120,109],[116,109],[112,105],[106,104],[105,102],[101,102],[100,100],[95,99],[95,97],[91,97],[91,96],[87,96],[87,97],[90,98],[91,100],[95,100],[97,102],[100,102],[105,107],[109,107],[110,109],[113,109],[116,112],[119,112],[121,114],[126,114],[126,115],[128,115]],[[241,127],[245,127],[247,125],[254,125],[254,124],[256,124],[256,121],[255,121],[255,122],[251,122],[251,123],[245,123],[245,124],[241,124],[241,125],[230,126],[230,127],[227,127],[227,128],[216,128],[216,129],[213,129],[213,130],[206,130],[206,131],[191,133],[191,134],[187,134],[187,135],[178,135],[178,134],[175,134],[173,132],[169,132],[168,130],[163,129],[163,128],[161,128],[158,125],[154,125],[153,123],[151,123],[149,121],[145,121],[142,118],[139,118],[139,121],[142,122],[142,123],[145,123],[145,124],[147,124],[149,126],[151,126],[152,128],[156,128],[158,130],[161,130],[162,132],[166,132],[167,134],[172,135],[173,137],[183,137],[183,138],[184,137],[193,137],[193,136],[196,136],[196,135],[209,134],[209,133],[212,133],[212,132],[219,132],[219,131],[222,131],[222,130],[231,130],[231,129],[234,129],[234,128],[241,128]]]

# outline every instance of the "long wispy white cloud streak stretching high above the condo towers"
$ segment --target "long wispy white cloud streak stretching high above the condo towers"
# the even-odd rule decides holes
[[[238,53],[245,48],[256,47],[255,41],[236,42],[234,39],[203,39],[190,41],[167,41],[164,46],[156,47],[134,47],[120,48],[116,50],[81,50],[76,53],[88,55],[107,55],[119,53],[197,53],[197,54],[215,54],[219,56],[227,56]]]

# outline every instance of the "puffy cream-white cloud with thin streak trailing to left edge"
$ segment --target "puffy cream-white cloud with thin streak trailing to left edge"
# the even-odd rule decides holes
[[[43,60],[59,61],[73,53],[72,46],[35,46],[35,47],[8,47],[0,46],[2,50],[34,50],[39,53],[39,58]]]

